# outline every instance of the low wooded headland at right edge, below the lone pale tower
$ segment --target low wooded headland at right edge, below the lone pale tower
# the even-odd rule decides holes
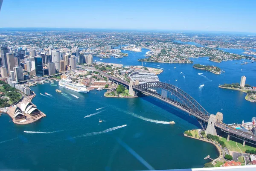
[[[238,90],[244,93],[247,93],[245,96],[245,100],[256,102],[256,91],[253,90],[253,86],[250,86],[249,84],[244,84],[244,87],[241,87],[239,83],[232,83],[232,84],[224,84],[219,85],[220,88],[226,88],[231,90]]]

